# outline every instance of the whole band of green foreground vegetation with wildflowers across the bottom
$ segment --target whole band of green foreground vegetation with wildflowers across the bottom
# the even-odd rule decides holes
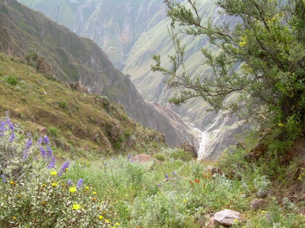
[[[29,145],[8,117],[0,126],[1,161],[8,162],[1,164],[3,227],[199,227],[208,214],[223,209],[242,214],[234,227],[304,227],[302,202],[284,197],[280,205],[279,196],[269,193],[264,210],[249,208],[256,192],[270,192],[271,172],[247,163],[242,149],[232,147],[214,163],[185,162],[173,156],[176,150],[163,148],[161,165],[119,156],[94,163],[67,160],[56,168],[45,154],[45,149],[51,154],[47,137]],[[297,181],[303,183],[303,176]]]

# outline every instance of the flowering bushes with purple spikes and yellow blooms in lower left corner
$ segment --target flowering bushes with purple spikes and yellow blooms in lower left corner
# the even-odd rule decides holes
[[[55,171],[55,157],[45,136],[32,141],[9,117],[0,121],[1,227],[116,227],[110,200],[92,186],[65,177],[70,161]]]

